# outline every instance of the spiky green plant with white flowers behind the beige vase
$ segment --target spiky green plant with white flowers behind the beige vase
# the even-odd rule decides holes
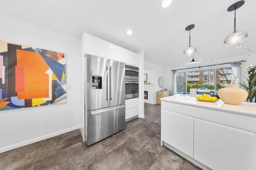
[[[238,84],[240,84],[248,92],[247,102],[252,102],[252,100],[256,97],[256,66],[254,64],[250,64],[245,72],[248,72],[248,78],[242,75],[245,79],[242,83]],[[244,82],[245,80],[247,80],[248,84]]]

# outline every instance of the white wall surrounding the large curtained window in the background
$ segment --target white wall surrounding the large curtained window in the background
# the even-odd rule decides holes
[[[228,47],[227,47],[228,48]],[[230,47],[232,48],[232,47]],[[250,48],[250,47],[248,47]],[[246,49],[240,49],[240,50],[246,50]],[[246,53],[246,52],[245,52]],[[215,60],[216,63],[221,64],[221,63],[230,63],[230,62],[235,62],[235,61],[241,61],[244,60],[246,58],[246,54],[244,55],[239,55],[239,56],[233,56],[233,57],[227,57],[227,58],[223,58],[223,59],[218,59]],[[196,66],[204,66],[204,65],[211,65],[212,63],[208,62],[208,63],[200,63],[200,64],[196,64],[193,65],[191,67],[196,67]],[[246,62],[243,63],[242,65],[242,72],[244,72],[244,70],[246,69],[246,67],[250,64],[256,64],[256,53],[252,53]],[[172,93],[172,70],[176,70],[176,69],[181,69],[181,68],[189,68],[190,66],[187,66],[184,64],[184,66],[176,66],[176,67],[166,67],[164,69],[164,76],[165,76],[165,86],[167,87],[168,90],[171,90]],[[186,70],[184,70],[186,71]],[[248,77],[248,74],[245,73],[244,76]],[[243,80],[243,78],[242,78]]]

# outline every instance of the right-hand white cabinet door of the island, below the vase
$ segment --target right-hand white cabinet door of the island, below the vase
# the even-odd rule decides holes
[[[255,170],[256,134],[195,118],[194,159],[214,170]]]

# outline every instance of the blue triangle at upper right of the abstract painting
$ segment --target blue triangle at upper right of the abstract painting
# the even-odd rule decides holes
[[[48,57],[47,55],[43,54],[40,51],[39,51],[39,53],[43,57],[44,61],[48,64],[48,66],[50,67],[52,72],[55,74],[55,76],[58,78],[58,80],[61,82],[64,65],[58,63],[54,59],[51,59],[50,57]]]

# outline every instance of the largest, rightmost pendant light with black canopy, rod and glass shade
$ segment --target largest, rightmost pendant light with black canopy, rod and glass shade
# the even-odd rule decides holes
[[[244,4],[244,0],[240,0],[234,4],[232,4],[230,7],[228,7],[228,12],[235,11],[235,18],[234,18],[234,32],[230,33],[225,39],[224,44],[226,46],[236,46],[240,43],[242,43],[246,37],[248,37],[248,33],[243,30],[236,30],[236,10],[240,8]]]

